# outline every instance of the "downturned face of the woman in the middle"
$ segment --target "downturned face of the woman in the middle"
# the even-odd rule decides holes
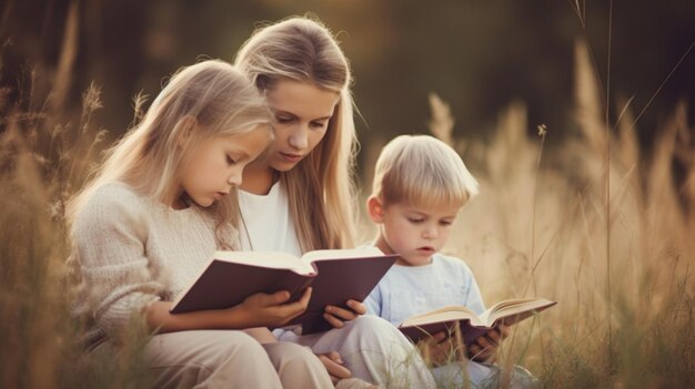
[[[288,172],[309,155],[325,135],[339,99],[339,93],[310,82],[279,80],[268,92],[275,113],[275,140],[269,150],[268,164]]]

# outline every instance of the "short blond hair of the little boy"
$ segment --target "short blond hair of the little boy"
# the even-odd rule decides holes
[[[384,206],[461,207],[477,194],[477,181],[461,156],[429,135],[401,135],[389,142],[376,160],[372,187]]]

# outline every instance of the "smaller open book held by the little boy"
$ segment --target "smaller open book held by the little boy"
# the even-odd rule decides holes
[[[481,315],[475,315],[464,306],[447,306],[412,316],[403,320],[399,329],[413,342],[417,342],[440,331],[451,334],[459,324],[463,340],[470,346],[498,324],[511,326],[555,304],[557,301],[546,298],[508,299],[493,305]]]

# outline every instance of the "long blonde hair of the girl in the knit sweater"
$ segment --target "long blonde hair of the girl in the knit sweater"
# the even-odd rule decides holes
[[[142,121],[130,130],[68,205],[73,225],[80,209],[104,184],[123,182],[138,193],[172,204],[182,162],[204,140],[241,135],[264,127],[272,139],[272,112],[265,99],[243,73],[231,64],[208,60],[178,71],[157,96]],[[189,134],[188,142],[181,142]],[[216,221],[220,246],[231,248],[239,206],[231,196],[205,208]],[[226,243],[225,243],[226,242]]]

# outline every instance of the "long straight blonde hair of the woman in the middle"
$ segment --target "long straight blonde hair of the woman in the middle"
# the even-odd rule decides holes
[[[350,65],[329,29],[316,20],[292,17],[258,29],[234,64],[259,90],[279,80],[310,82],[340,94],[324,139],[280,182],[303,250],[354,244],[354,157],[356,135],[350,94]]]

